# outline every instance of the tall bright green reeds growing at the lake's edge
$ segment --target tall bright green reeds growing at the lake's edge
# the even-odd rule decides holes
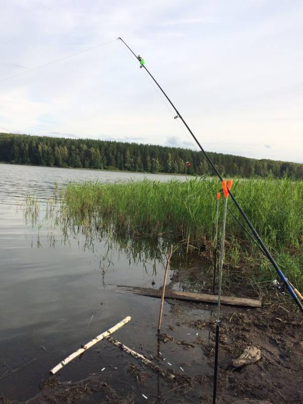
[[[215,179],[71,183],[64,204],[67,217],[80,224],[112,226],[134,236],[171,236],[211,257],[216,197],[209,185],[221,188]],[[289,178],[236,180],[233,193],[289,279],[303,286],[303,182]],[[228,206],[241,221],[230,198]],[[244,265],[252,271],[257,266],[260,282],[274,277],[271,265],[230,214],[226,231],[226,262],[231,267]]]

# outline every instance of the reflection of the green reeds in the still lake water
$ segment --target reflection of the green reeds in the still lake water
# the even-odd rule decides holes
[[[97,216],[87,218],[78,215],[72,217],[65,206],[63,199],[50,199],[39,203],[35,195],[27,196],[23,206],[25,223],[36,232],[36,244],[33,240],[31,246],[42,247],[40,240],[41,229],[47,228],[47,246],[56,248],[60,245],[71,247],[77,242],[78,249],[82,252],[91,252],[98,255],[98,269],[102,271],[105,285],[105,273],[110,267],[115,266],[114,261],[120,261],[121,257],[127,259],[128,266],[141,265],[146,274],[157,275],[157,268],[162,268],[165,260],[165,252],[170,249],[172,239],[168,237],[136,237],[129,233],[127,228],[120,228],[105,222]],[[83,223],[84,224],[79,224]],[[194,256],[196,259],[196,256]],[[192,266],[190,255],[181,246],[174,248],[171,259],[171,268],[188,269]],[[151,271],[150,271],[151,267]],[[156,284],[153,280],[153,286]],[[185,291],[193,281],[186,277],[179,283],[179,287]],[[198,285],[198,281],[195,282]],[[180,289],[181,290],[181,289]]]

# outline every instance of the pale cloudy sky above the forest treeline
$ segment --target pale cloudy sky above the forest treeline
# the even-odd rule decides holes
[[[2,0],[1,9],[0,132],[197,149],[119,36],[206,150],[303,163],[301,0]]]

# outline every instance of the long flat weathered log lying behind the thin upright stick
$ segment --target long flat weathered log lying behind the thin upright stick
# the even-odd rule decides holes
[[[150,297],[162,296],[162,290],[159,289],[121,286],[121,289],[119,290]],[[179,300],[203,301],[212,304],[218,303],[218,296],[205,293],[190,293],[190,292],[177,292],[175,290],[166,290],[165,297]],[[233,297],[233,296],[221,296],[221,304],[228,306],[240,306],[240,307],[262,307],[262,302],[260,300],[248,299],[243,297]]]

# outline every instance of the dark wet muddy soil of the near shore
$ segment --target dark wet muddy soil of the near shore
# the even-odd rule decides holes
[[[198,279],[197,272],[192,271],[190,275],[200,285],[197,291],[209,290],[210,285]],[[185,285],[183,278],[185,274],[178,271],[169,287],[186,290],[188,284]],[[230,292],[230,287],[225,287],[224,293]],[[255,290],[247,286],[242,289],[238,286],[236,295],[258,297]],[[261,309],[221,308],[218,404],[247,399],[267,400],[272,404],[303,402],[302,314],[287,296],[270,289],[266,291],[266,296]],[[141,298],[155,300],[145,296]],[[156,300],[160,307],[160,299]],[[25,402],[209,404],[212,402],[213,389],[215,314],[216,307],[212,305],[168,299],[161,335],[157,336],[156,324],[150,324],[145,329],[146,333],[154,335],[154,345],[146,342],[142,334],[136,334],[133,329],[136,342],[130,347],[135,347],[149,360],[175,374],[173,381],[155,374],[125,352],[112,347],[116,349],[117,363],[123,377],[119,374],[117,380],[117,363],[107,364],[105,371],[100,369],[80,381],[64,380],[63,370],[62,374],[42,381],[39,394]],[[102,356],[101,346],[106,344],[109,345],[109,342],[99,343],[100,347],[93,350],[93,355]],[[232,359],[239,357],[244,348],[251,345],[261,349],[261,360],[234,369]],[[1,397],[0,403],[17,404],[17,401]]]

